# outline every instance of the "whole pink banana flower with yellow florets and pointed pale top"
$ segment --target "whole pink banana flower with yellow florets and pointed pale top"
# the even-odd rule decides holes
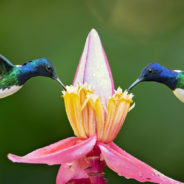
[[[120,176],[140,182],[180,184],[131,156],[113,140],[132,106],[132,94],[114,90],[111,70],[97,32],[93,29],[72,86],[63,92],[66,113],[76,137],[40,148],[13,162],[59,164],[57,184],[104,184],[107,165]]]

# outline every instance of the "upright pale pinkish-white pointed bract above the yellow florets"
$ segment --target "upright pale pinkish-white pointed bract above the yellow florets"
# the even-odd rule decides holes
[[[114,93],[108,60],[96,30],[89,33],[73,84],[87,82],[95,93],[107,99]]]

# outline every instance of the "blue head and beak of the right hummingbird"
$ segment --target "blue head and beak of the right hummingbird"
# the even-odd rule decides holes
[[[169,88],[174,89],[176,76],[177,72],[168,70],[158,63],[150,63],[142,70],[139,78],[128,88],[128,91],[143,81],[155,81],[164,83]]]

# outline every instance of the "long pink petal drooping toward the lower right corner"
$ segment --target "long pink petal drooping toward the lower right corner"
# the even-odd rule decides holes
[[[164,176],[149,165],[126,153],[114,143],[108,145],[100,143],[99,147],[108,167],[120,176],[133,178],[140,182],[181,184],[181,182]]]

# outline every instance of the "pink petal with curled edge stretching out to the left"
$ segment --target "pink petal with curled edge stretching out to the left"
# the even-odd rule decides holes
[[[23,157],[8,154],[13,162],[41,163],[41,164],[63,164],[84,157],[96,144],[96,136],[86,140],[71,137],[37,149]]]

